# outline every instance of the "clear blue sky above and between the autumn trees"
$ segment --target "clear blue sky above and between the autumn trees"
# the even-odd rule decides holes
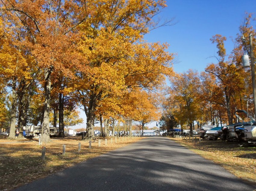
[[[256,17],[256,0],[167,0],[167,6],[159,17],[162,21],[174,18],[173,23],[176,24],[151,31],[145,35],[145,40],[167,42],[170,45],[168,51],[177,54],[173,65],[177,73],[189,69],[202,72],[209,63],[216,63],[212,56],[216,56],[218,50],[210,38],[215,34],[226,36],[225,47],[227,53],[230,53],[239,26],[244,22],[245,12],[255,13]],[[73,128],[86,127],[83,111],[81,117],[84,124]],[[155,125],[153,122],[148,126]]]

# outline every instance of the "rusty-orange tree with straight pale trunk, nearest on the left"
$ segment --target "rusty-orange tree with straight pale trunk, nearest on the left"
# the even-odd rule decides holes
[[[76,27],[91,13],[84,1],[1,1],[1,10],[7,11],[11,22],[20,21],[27,31],[27,49],[43,71],[41,78],[45,91],[42,140],[49,141],[49,101],[52,79],[58,71],[70,75],[76,57],[72,54]]]

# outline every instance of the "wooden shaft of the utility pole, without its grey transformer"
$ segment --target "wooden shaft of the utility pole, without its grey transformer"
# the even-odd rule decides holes
[[[249,37],[250,37],[251,79],[252,79],[252,92],[253,92],[253,102],[254,102],[254,117],[256,118],[256,85],[255,85],[255,68],[254,68],[252,34],[250,34]]]

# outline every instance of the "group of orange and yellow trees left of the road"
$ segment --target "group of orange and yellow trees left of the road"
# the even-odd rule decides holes
[[[1,125],[10,127],[9,139],[17,124],[22,132],[26,123],[41,123],[42,141],[49,142],[50,113],[64,136],[64,111],[79,106],[88,139],[96,118],[157,120],[157,92],[174,73],[173,54],[143,36],[157,27],[153,18],[165,1],[2,0],[0,6]]]

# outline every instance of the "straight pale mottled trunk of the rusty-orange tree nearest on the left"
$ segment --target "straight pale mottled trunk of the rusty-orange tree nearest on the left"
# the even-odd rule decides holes
[[[51,70],[47,68],[44,69],[45,75],[45,103],[44,103],[44,117],[42,123],[42,142],[48,143],[50,142],[50,127],[49,127],[49,115],[50,115],[50,95],[51,95]]]

